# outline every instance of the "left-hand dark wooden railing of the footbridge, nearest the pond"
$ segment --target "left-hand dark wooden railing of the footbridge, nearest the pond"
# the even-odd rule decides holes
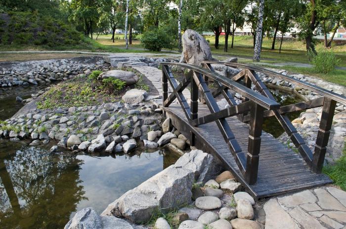
[[[257,181],[259,167],[260,136],[262,131],[263,114],[265,112],[277,112],[280,105],[273,99],[260,95],[250,88],[225,76],[215,73],[212,69],[205,69],[194,65],[183,63],[160,63],[162,65],[163,83],[163,106],[169,107],[177,99],[186,118],[192,126],[199,126],[215,121],[219,131],[226,141],[244,179],[249,184]],[[191,70],[180,83],[176,81],[170,69],[170,65],[179,66]],[[208,80],[213,79],[217,83],[218,89],[212,92],[208,86]],[[173,92],[169,95],[168,85],[171,85]],[[182,91],[190,85],[191,103],[190,106]],[[248,99],[239,105],[236,104],[233,95],[228,91],[231,89]],[[199,93],[206,103],[211,114],[200,117],[198,115]],[[228,108],[220,110],[216,104],[215,97],[222,94],[230,105]],[[202,100],[200,100],[202,102]],[[226,117],[249,114],[249,138],[248,149],[245,154],[242,152],[232,130],[230,129]],[[194,145],[195,136],[190,135],[190,143]]]

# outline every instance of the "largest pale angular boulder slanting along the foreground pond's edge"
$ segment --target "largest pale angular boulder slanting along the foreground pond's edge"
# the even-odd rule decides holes
[[[171,165],[109,204],[101,215],[144,222],[156,209],[173,210],[191,201],[194,175],[190,169]]]

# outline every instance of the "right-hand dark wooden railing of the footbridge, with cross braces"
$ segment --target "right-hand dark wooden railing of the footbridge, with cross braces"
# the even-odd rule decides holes
[[[265,86],[265,84],[261,81],[260,77],[257,75],[257,72],[263,73],[270,77],[283,79],[297,86],[301,86],[302,88],[308,89],[311,92],[321,95],[322,97],[320,98],[316,98],[316,99],[312,99],[312,100],[308,100],[305,102],[300,102],[300,103],[296,103],[296,104],[292,104],[288,106],[282,106],[277,110],[269,110],[263,113],[264,117],[275,116],[277,118],[280,125],[288,134],[292,143],[297,147],[299,153],[301,153],[306,163],[310,165],[310,167],[312,168],[314,172],[321,173],[325,154],[327,151],[326,147],[328,145],[328,140],[329,140],[330,130],[332,127],[336,103],[339,102],[342,104],[346,104],[346,97],[339,95],[337,93],[334,93],[332,91],[328,91],[326,89],[320,88],[316,85],[303,82],[299,79],[295,79],[290,76],[285,76],[283,74],[279,74],[279,73],[266,70],[263,68],[255,67],[255,66],[248,66],[244,64],[238,64],[238,63],[218,62],[218,61],[204,61],[203,63],[205,65],[205,68],[207,68],[210,71],[214,71],[212,68],[212,64],[225,65],[225,66],[229,66],[233,68],[242,69],[242,71],[239,74],[232,77],[232,80],[241,82],[245,84],[245,86],[247,86],[248,88],[251,88],[251,85],[254,84],[256,90],[259,91],[260,94],[264,95],[265,97],[271,100],[275,100],[275,98],[272,96],[272,94],[270,93],[268,88]],[[249,98],[244,96],[243,101],[246,101],[247,99]],[[286,114],[296,112],[296,111],[302,111],[302,110],[306,110],[310,108],[317,108],[317,107],[323,107],[323,108],[322,108],[322,115],[320,119],[319,130],[317,133],[314,153],[312,153],[312,151],[305,144],[303,138],[297,132],[297,129],[292,125],[290,119],[287,117]],[[242,121],[251,120],[251,115],[242,114],[239,117],[241,117]]]

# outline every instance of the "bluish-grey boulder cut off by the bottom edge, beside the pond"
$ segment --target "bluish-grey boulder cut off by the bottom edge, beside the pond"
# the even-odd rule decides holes
[[[84,208],[65,225],[64,229],[133,229],[125,220],[114,216],[99,216],[93,208]]]

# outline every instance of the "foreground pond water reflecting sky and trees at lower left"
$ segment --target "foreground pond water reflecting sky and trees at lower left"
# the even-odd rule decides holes
[[[101,213],[179,157],[140,149],[131,154],[49,153],[50,147],[0,142],[2,229],[63,228],[82,208]]]

